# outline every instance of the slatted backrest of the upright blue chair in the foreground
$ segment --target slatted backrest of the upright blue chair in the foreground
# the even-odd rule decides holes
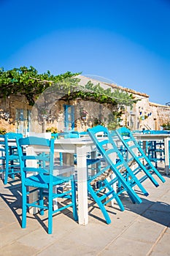
[[[31,150],[28,151],[28,148]],[[54,139],[48,140],[37,137],[20,138],[18,140],[18,152],[23,181],[28,173],[48,174],[50,175],[50,181],[53,181]],[[29,160],[34,162],[33,166],[30,165]],[[39,162],[45,162],[45,164],[42,166],[39,165]]]

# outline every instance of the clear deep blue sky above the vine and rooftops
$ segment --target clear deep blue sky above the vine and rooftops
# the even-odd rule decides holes
[[[169,0],[0,0],[0,67],[96,75],[170,102]]]

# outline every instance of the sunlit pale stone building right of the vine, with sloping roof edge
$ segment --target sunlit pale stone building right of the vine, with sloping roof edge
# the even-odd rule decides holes
[[[130,129],[162,129],[163,124],[170,122],[170,107],[167,105],[159,105],[150,102],[149,95],[132,89],[117,86],[112,83],[104,83],[92,78],[86,78],[82,75],[79,76],[81,84],[85,85],[90,80],[93,84],[100,83],[104,89],[112,87],[112,89],[120,89],[128,94],[133,94],[135,99],[139,99],[134,104],[133,109],[130,107],[125,108],[125,113],[122,115],[121,125]]]

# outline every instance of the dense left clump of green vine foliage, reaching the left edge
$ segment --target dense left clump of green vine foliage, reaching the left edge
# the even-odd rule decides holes
[[[62,75],[51,75],[50,71],[38,74],[34,67],[20,67],[4,71],[0,69],[0,91],[1,96],[7,97],[11,94],[23,94],[28,99],[29,105],[34,105],[34,101],[39,94],[54,83],[61,82],[66,78],[73,78],[78,73],[66,72]],[[73,81],[76,80],[73,78]],[[69,89],[69,84],[67,84]]]

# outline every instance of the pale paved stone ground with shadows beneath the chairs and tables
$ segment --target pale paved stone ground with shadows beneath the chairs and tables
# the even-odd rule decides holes
[[[164,173],[164,170],[161,170]],[[97,206],[89,201],[89,223],[78,225],[67,209],[53,217],[53,234],[47,234],[47,215],[28,214],[27,227],[20,227],[20,182],[0,180],[0,255],[170,255],[170,176],[158,188],[147,180],[150,193],[139,205],[122,197],[125,211],[107,207],[107,225]]]

